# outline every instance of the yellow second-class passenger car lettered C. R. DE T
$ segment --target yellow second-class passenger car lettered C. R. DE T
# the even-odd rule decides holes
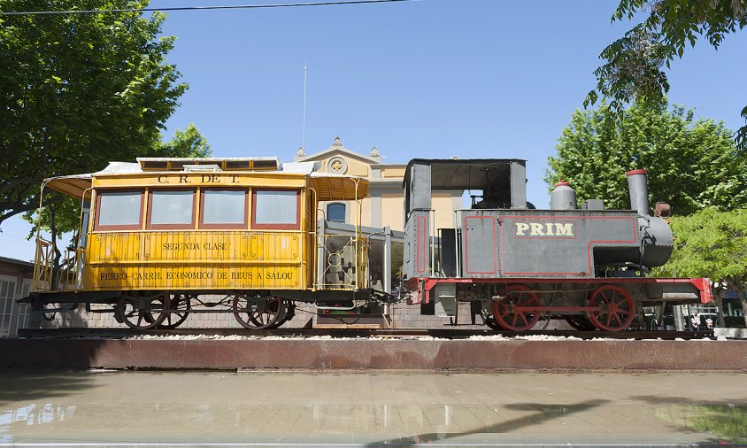
[[[326,235],[318,212],[320,201],[359,206],[366,180],[277,158],[138,158],[48,179],[42,197],[45,189],[81,200],[81,228],[64,275],[37,237],[27,300],[37,311],[112,305],[119,321],[147,329],[222,310],[245,328],[271,328],[296,301],[366,297],[359,223],[351,235]]]

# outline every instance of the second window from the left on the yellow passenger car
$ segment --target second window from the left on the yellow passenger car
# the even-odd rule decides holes
[[[194,228],[195,192],[155,189],[148,201],[148,228]]]

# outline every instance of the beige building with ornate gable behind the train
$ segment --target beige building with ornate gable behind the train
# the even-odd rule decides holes
[[[296,162],[320,162],[320,171],[364,177],[370,182],[369,197],[360,201],[361,225],[372,228],[389,226],[404,229],[404,189],[402,182],[407,165],[381,163],[374,146],[364,156],[345,148],[340,137],[324,151],[305,155],[299,149]],[[453,228],[453,212],[462,208],[462,190],[434,191],[435,228]],[[327,220],[353,223],[354,201],[321,203]]]

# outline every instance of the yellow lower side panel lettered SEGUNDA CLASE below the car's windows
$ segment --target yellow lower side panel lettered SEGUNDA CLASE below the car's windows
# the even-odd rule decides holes
[[[303,236],[291,231],[94,233],[84,290],[306,289]]]

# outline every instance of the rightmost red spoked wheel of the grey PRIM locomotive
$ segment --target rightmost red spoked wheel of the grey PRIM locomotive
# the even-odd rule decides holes
[[[605,331],[628,328],[635,317],[633,297],[617,285],[604,285],[594,290],[589,306],[597,308],[589,313],[589,320]]]

